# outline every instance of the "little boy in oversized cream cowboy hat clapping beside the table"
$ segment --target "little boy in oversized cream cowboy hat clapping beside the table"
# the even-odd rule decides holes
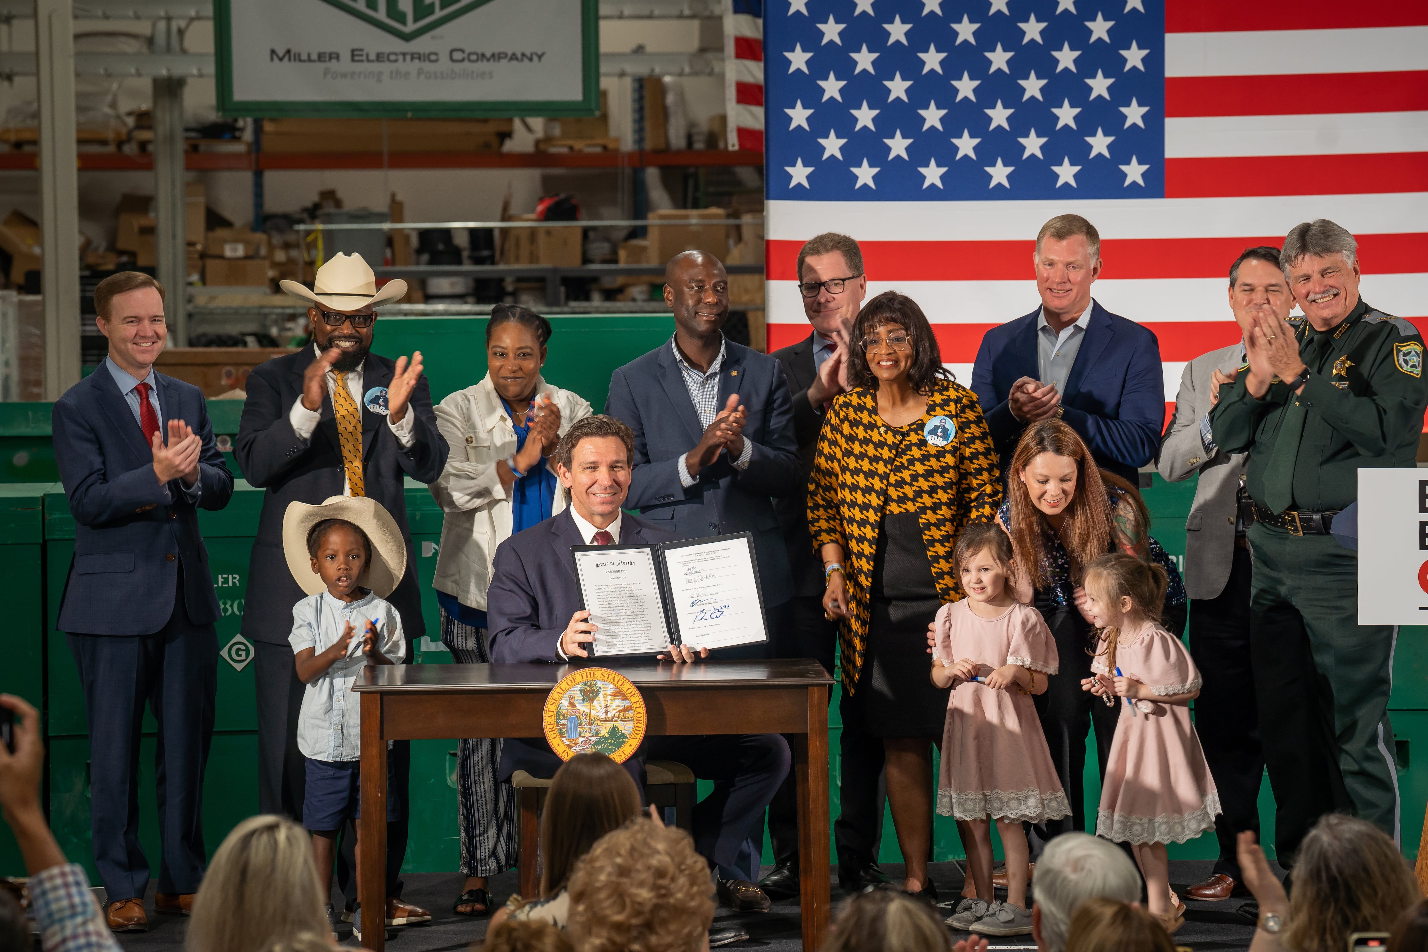
[[[376,500],[334,495],[321,505],[287,507],[283,555],[307,592],[293,605],[287,639],[297,655],[297,677],[307,685],[297,721],[307,779],[303,826],[313,834],[326,902],[337,835],[348,821],[356,831],[360,816],[361,705],[351,689],[363,667],[406,658],[401,617],[383,597],[407,571],[407,548],[391,514]],[[396,798],[388,798],[387,821],[398,815]],[[327,918],[333,922],[330,902]],[[361,939],[360,909],[353,933]]]

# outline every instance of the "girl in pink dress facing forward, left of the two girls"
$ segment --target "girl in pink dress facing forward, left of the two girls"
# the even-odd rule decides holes
[[[934,622],[932,684],[952,688],[937,812],[957,818],[977,898],[962,899],[947,923],[982,935],[1027,935],[1021,824],[1071,812],[1031,702],[1057,672],[1057,645],[1041,612],[1012,597],[1011,540],[1000,527],[968,524],[952,562],[967,598],[942,605]],[[992,893],[992,819],[1007,854],[1007,902]]]

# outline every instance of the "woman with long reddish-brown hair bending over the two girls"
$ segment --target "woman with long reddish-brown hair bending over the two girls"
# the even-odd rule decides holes
[[[1060,420],[1034,422],[1021,435],[997,521],[1011,535],[1017,554],[1017,598],[1035,605],[1045,618],[1061,658],[1060,675],[1051,678],[1035,702],[1072,814],[1032,828],[1032,836],[1045,842],[1057,834],[1085,829],[1087,729],[1095,728],[1104,776],[1120,716],[1120,708],[1107,707],[1081,689],[1081,679],[1091,677],[1097,637],[1081,614],[1082,568],[1098,555],[1117,551],[1158,562],[1170,575],[1162,621],[1175,635],[1185,628],[1185,585],[1174,559],[1150,535],[1151,518],[1141,494],[1114,472],[1097,468],[1077,431]]]

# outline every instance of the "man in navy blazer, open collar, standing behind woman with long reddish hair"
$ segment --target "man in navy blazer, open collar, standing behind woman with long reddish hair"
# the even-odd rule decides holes
[[[1001,467],[1028,422],[1054,417],[1081,434],[1102,470],[1135,485],[1165,428],[1160,343],[1091,300],[1101,237],[1081,216],[1041,226],[1034,264],[1041,307],[987,331],[972,367]]]

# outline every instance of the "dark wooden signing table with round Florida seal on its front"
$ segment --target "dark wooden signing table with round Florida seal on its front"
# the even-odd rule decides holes
[[[640,688],[647,736],[670,734],[793,734],[798,781],[798,869],[803,946],[818,949],[828,931],[828,691],[817,661],[611,659]],[[545,697],[584,664],[367,665],[361,695],[361,866],[364,909],[386,909],[387,741],[540,736]],[[363,931],[368,949],[386,929]]]

